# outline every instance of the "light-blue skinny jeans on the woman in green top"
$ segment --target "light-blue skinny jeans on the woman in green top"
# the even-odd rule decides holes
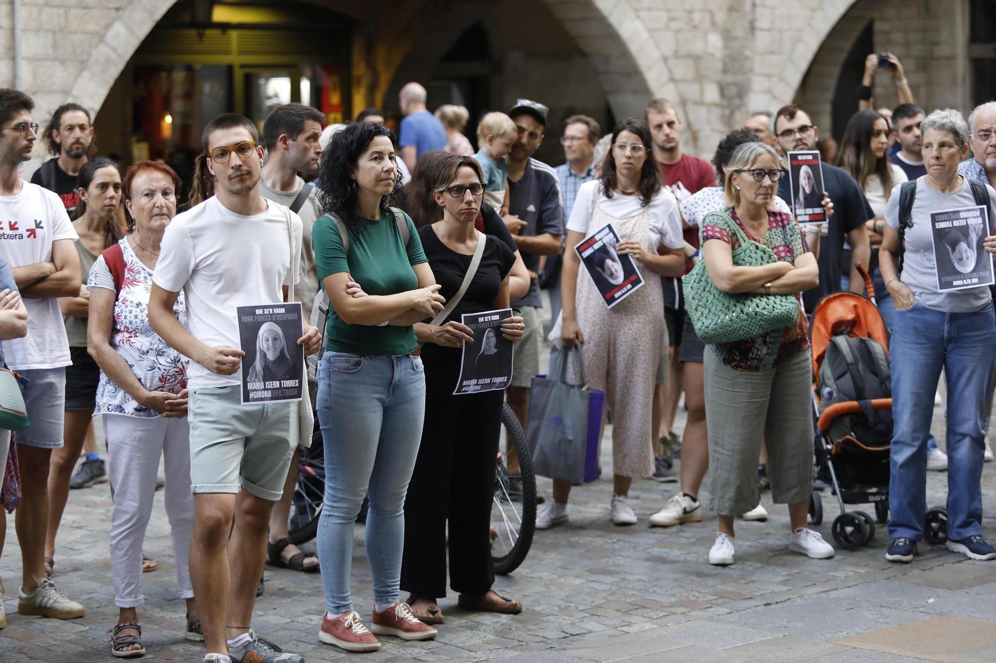
[[[370,497],[367,558],[373,599],[395,603],[404,546],[404,496],[418,456],[425,414],[422,360],[407,354],[360,356],[326,351],[316,397],[325,444],[325,506],[318,556],[329,614],[353,609],[353,531]]]

